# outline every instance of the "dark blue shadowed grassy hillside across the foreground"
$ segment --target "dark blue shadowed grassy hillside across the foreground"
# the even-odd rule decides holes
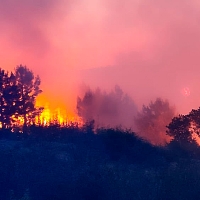
[[[0,131],[0,199],[198,199],[200,151],[131,131],[31,126]]]

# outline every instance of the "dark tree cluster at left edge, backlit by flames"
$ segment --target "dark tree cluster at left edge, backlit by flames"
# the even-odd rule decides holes
[[[42,91],[40,78],[26,66],[19,65],[14,72],[0,69],[0,124],[2,128],[13,126],[21,119],[24,127],[38,115],[36,97]]]

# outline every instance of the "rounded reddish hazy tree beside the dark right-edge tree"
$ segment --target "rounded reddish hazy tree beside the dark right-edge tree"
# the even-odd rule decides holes
[[[138,112],[135,118],[137,133],[153,144],[163,145],[171,139],[166,136],[166,126],[174,116],[175,108],[167,100],[157,98]]]

